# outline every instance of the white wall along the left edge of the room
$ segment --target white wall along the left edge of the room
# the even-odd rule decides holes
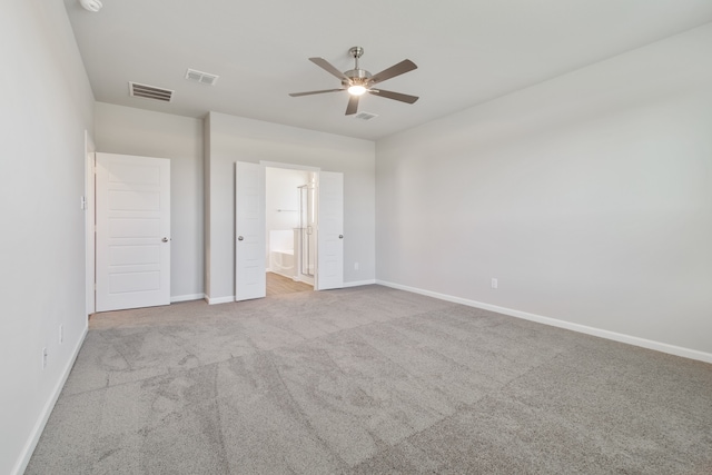
[[[87,330],[80,196],[93,97],[61,1],[3,2],[0,50],[12,71],[0,75],[0,473],[13,474]]]

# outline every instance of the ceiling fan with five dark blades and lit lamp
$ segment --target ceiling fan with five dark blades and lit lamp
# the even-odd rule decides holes
[[[418,100],[417,96],[408,96],[400,92],[387,91],[384,89],[375,89],[373,86],[378,82],[383,82],[386,79],[395,78],[396,76],[404,75],[408,71],[413,71],[417,68],[415,62],[409,59],[404,59],[397,65],[392,66],[390,68],[386,68],[377,75],[372,75],[365,69],[360,69],[358,67],[358,58],[364,55],[364,49],[362,47],[354,47],[348,50],[349,55],[354,57],[354,61],[356,66],[354,69],[349,69],[348,71],[339,71],[336,69],[330,62],[328,62],[324,58],[309,58],[309,61],[314,62],[319,68],[324,69],[326,72],[336,76],[342,80],[342,87],[339,89],[325,89],[320,91],[307,91],[307,92],[293,92],[289,96],[291,97],[300,97],[300,96],[312,96],[312,95],[320,95],[325,92],[339,92],[339,91],[348,91],[350,95],[348,98],[348,106],[346,107],[346,115],[350,116],[356,113],[358,110],[358,99],[366,92],[385,97],[386,99],[399,100],[400,102],[413,103]]]

